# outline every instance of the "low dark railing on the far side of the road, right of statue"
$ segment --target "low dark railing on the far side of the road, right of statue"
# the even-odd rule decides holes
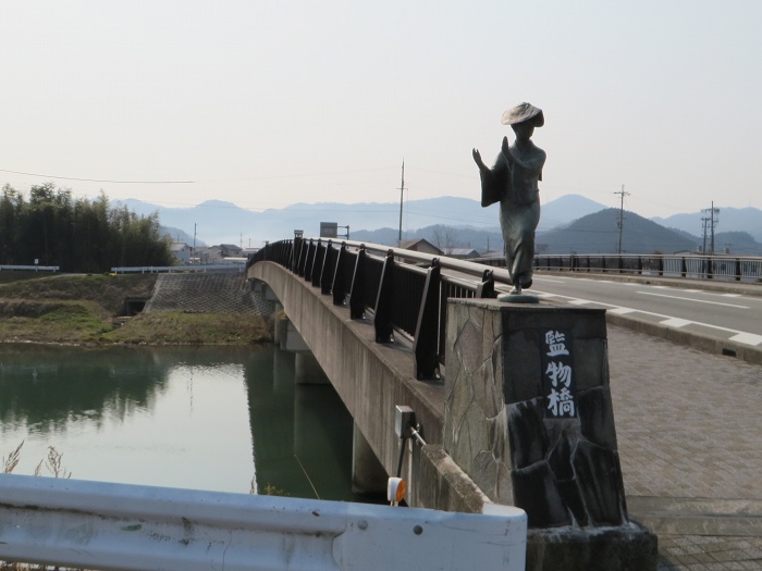
[[[481,260],[478,260],[481,261]],[[762,258],[685,255],[539,255],[534,268],[557,272],[604,272],[693,280],[762,282]]]

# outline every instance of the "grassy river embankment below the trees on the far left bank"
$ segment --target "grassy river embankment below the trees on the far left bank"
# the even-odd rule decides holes
[[[250,345],[270,340],[265,319],[156,312],[120,318],[125,298],[149,298],[156,274],[0,272],[0,343]]]

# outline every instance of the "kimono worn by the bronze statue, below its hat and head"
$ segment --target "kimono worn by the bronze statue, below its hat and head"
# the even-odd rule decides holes
[[[500,202],[500,225],[505,261],[514,285],[531,286],[534,261],[534,229],[540,222],[538,181],[542,181],[545,151],[531,140],[509,148],[513,164],[503,152],[494,166],[481,171],[481,206]]]

